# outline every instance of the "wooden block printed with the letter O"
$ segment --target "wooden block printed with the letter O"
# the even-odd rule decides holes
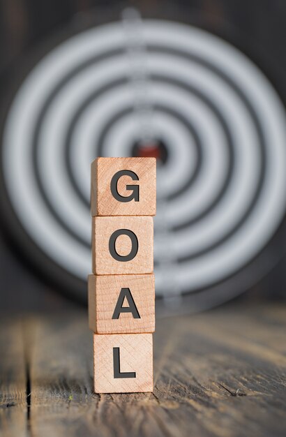
[[[93,274],[153,272],[152,217],[93,217]]]

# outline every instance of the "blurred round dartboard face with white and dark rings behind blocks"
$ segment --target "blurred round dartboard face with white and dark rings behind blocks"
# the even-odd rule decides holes
[[[6,193],[35,263],[84,300],[91,161],[156,156],[156,296],[168,311],[212,306],[255,283],[283,220],[285,110],[225,40],[164,20],[132,31],[93,27],[33,66],[3,128]]]

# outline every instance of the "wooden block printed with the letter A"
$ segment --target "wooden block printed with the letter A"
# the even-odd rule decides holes
[[[154,332],[154,275],[89,275],[89,327],[98,334]]]

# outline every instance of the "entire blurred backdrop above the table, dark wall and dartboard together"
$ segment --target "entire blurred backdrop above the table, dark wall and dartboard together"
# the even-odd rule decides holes
[[[86,305],[90,163],[155,156],[158,314],[285,299],[286,3],[1,0],[0,311]]]

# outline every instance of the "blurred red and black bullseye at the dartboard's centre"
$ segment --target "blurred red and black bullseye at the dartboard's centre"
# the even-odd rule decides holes
[[[165,164],[168,158],[167,147],[163,140],[137,140],[133,145],[132,154],[142,158],[157,158],[162,164]]]

